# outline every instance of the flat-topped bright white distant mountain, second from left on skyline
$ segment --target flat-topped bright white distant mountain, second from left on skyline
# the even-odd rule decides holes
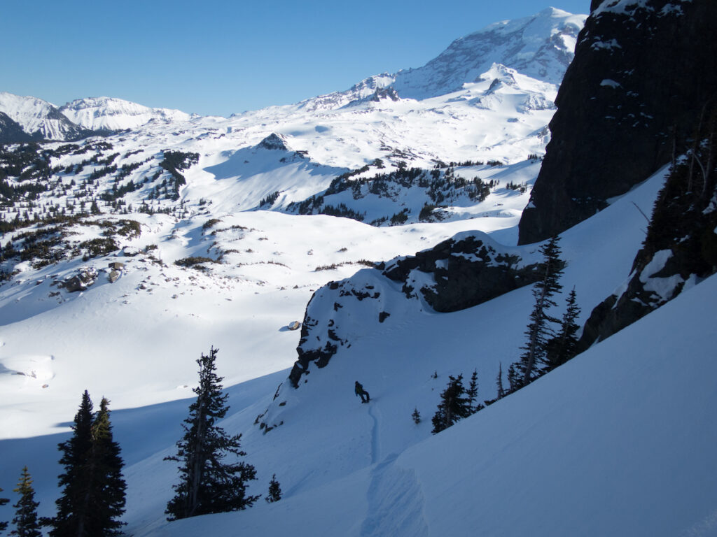
[[[191,115],[181,110],[149,108],[122,99],[91,97],[60,107],[60,112],[89,130],[133,129],[150,121],[186,121]]]

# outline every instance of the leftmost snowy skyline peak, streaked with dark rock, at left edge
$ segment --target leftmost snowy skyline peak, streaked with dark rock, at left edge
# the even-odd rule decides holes
[[[36,140],[77,140],[90,135],[88,130],[62,115],[57,107],[37,97],[0,92],[0,112],[17,122]]]

